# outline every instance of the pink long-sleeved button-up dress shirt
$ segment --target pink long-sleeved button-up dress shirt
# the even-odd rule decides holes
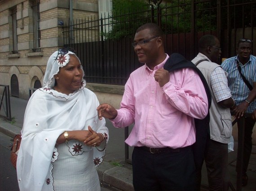
[[[125,140],[130,146],[176,149],[194,144],[194,118],[207,115],[207,95],[193,69],[170,72],[170,81],[162,88],[154,80],[168,58],[153,71],[146,64],[138,68],[125,85],[118,115],[111,121],[115,127],[134,123]]]

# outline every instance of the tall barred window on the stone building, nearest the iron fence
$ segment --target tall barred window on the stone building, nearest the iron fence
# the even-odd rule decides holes
[[[33,2],[32,10],[33,10],[33,36],[34,36],[34,52],[40,52],[40,0],[35,0]]]

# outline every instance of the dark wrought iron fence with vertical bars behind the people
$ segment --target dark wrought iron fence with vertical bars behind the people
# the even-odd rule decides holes
[[[142,65],[131,43],[136,29],[146,22],[162,28],[169,55],[177,52],[191,60],[199,38],[213,34],[221,41],[222,58],[228,58],[236,54],[239,38],[256,39],[256,1],[179,0],[101,19],[81,18],[63,27],[64,46],[77,51],[88,82],[124,85]]]

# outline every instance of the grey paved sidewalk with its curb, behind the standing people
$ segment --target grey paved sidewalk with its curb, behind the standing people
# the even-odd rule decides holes
[[[11,115],[13,122],[6,121],[0,117],[0,132],[14,137],[21,130],[27,100],[11,97]],[[0,112],[2,114],[2,111]],[[117,129],[106,121],[110,131],[110,141],[106,148],[106,157],[97,168],[100,180],[109,185],[115,191],[133,191],[132,187],[132,166],[124,162],[124,129]],[[229,153],[230,183],[236,189],[236,156],[237,142],[234,143],[233,152]],[[129,149],[131,156],[132,148]],[[248,166],[248,185],[242,187],[242,191],[256,191],[256,145],[253,145],[250,164]],[[202,171],[201,191],[207,191],[207,172],[205,165]],[[231,189],[230,189],[231,190]]]

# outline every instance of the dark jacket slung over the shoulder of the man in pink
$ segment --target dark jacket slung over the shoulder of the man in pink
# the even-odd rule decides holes
[[[194,119],[196,128],[196,142],[193,144],[193,153],[196,169],[201,169],[203,165],[203,155],[205,150],[207,133],[209,132],[210,115],[209,109],[212,103],[212,96],[202,72],[191,62],[186,60],[182,55],[173,53],[163,66],[163,69],[172,72],[181,68],[193,68],[200,76],[208,98],[208,114],[204,119]]]

